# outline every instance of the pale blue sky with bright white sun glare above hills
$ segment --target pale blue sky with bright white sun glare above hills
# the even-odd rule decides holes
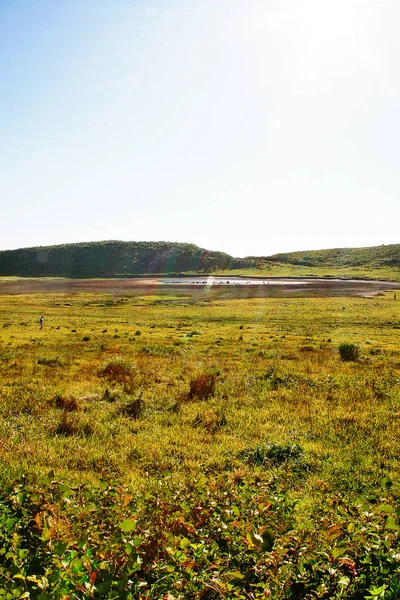
[[[398,0],[0,0],[0,249],[400,243]]]

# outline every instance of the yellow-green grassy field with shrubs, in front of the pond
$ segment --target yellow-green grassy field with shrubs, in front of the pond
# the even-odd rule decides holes
[[[0,598],[400,597],[392,292],[2,294],[0,375]]]

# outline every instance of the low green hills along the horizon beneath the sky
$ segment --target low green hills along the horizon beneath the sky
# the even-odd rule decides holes
[[[135,277],[284,268],[343,270],[390,269],[400,273],[400,244],[334,248],[234,258],[176,242],[83,242],[0,251],[0,276]],[[300,274],[300,273],[299,273]]]

